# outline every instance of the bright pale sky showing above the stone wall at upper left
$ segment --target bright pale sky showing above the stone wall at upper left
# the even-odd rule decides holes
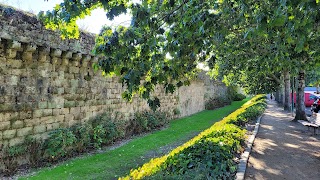
[[[7,4],[24,11],[32,12],[34,14],[38,14],[39,11],[51,10],[56,4],[60,4],[61,2],[63,2],[63,0],[0,0],[0,3],[2,4]],[[113,21],[109,21],[105,16],[105,12],[102,9],[97,9],[92,12],[90,17],[80,20],[77,23],[80,28],[86,31],[99,33],[103,25],[128,25],[128,23],[130,23],[130,19],[130,15],[120,15]]]

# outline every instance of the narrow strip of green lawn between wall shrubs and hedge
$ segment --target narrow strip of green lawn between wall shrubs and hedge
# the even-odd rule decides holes
[[[114,150],[72,159],[57,167],[43,168],[34,176],[20,179],[117,179],[129,173],[130,169],[148,162],[154,156],[163,155],[188,141],[241,107],[246,101],[248,99],[233,102],[230,106],[213,111],[206,110],[173,120],[168,128],[143,137],[136,137]]]

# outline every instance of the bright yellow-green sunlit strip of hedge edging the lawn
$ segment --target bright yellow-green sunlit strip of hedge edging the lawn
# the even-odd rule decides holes
[[[173,149],[170,153],[162,157],[151,159],[149,162],[143,164],[141,167],[130,170],[129,175],[125,177],[120,177],[119,180],[143,179],[144,177],[155,174],[160,170],[161,165],[167,160],[169,156],[174,156],[175,154],[178,154],[183,149],[195,144],[201,138],[208,136],[214,131],[215,127],[228,124],[232,119],[244,113],[247,108],[256,105],[261,99],[264,99],[264,102],[265,102],[265,97],[266,96],[264,94],[254,96],[251,100],[246,102],[239,109],[229,114],[227,117],[223,118],[221,121],[213,124],[210,128],[202,131],[200,134],[198,134],[188,142],[184,143],[181,146],[178,146],[177,148]]]

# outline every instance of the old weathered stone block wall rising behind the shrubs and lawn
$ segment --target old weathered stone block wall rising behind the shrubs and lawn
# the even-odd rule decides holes
[[[126,121],[149,109],[140,98],[124,101],[117,77],[93,72],[98,60],[93,45],[92,34],[61,40],[34,15],[0,6],[0,147],[28,135],[45,138],[50,130],[85,123],[102,112],[120,112]],[[174,94],[160,86],[155,94],[162,110],[183,117],[204,110],[205,98],[224,89],[203,75]]]

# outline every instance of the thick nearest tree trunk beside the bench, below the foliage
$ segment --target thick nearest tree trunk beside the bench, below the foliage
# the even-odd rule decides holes
[[[296,116],[294,121],[297,120],[307,120],[306,116],[306,106],[304,105],[304,88],[305,88],[305,79],[304,79],[304,70],[301,70],[298,75],[298,89],[297,89],[297,102],[296,102]]]

